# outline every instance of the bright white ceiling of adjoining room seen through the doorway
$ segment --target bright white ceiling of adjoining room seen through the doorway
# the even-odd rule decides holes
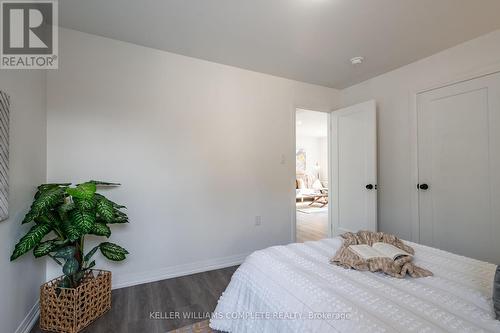
[[[326,138],[328,136],[328,114],[297,109],[295,116],[297,137]]]

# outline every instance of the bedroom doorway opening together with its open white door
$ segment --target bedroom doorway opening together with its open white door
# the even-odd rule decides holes
[[[295,110],[297,242],[377,231],[375,100],[331,113]]]

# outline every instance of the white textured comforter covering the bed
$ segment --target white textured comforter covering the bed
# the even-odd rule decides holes
[[[338,238],[254,252],[219,299],[225,332],[500,332],[495,265],[407,242],[427,278],[396,279],[328,263]]]

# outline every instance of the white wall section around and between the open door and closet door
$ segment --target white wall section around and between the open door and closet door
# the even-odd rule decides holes
[[[500,70],[500,30],[342,91],[344,106],[377,100],[381,231],[411,238],[413,94],[493,68]]]

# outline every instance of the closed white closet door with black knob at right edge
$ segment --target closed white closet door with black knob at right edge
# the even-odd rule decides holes
[[[500,74],[417,102],[420,242],[500,263]]]

